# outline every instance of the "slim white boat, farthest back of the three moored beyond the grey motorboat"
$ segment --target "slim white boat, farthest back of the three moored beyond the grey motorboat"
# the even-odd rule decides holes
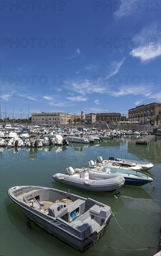
[[[138,166],[141,167],[144,171],[148,171],[149,169],[154,167],[154,164],[150,163],[150,162],[141,162],[141,161],[133,161],[133,160],[127,160],[127,159],[121,159],[121,158],[114,158],[113,156],[109,157],[108,160],[103,160],[103,158],[101,156],[98,156],[97,158],[97,162],[101,162],[101,163],[107,163],[107,162],[111,162],[111,163],[117,163],[118,165],[120,165],[121,167],[134,167],[134,166]]]

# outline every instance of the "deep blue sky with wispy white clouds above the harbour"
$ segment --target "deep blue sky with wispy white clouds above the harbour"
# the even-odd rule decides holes
[[[161,102],[160,0],[0,4],[2,118]]]

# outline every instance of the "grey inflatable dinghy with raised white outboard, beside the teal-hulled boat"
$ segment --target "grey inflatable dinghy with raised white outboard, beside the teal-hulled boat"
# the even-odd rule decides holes
[[[114,191],[123,186],[125,179],[120,175],[94,173],[88,168],[67,168],[68,174],[56,173],[53,179],[67,185],[92,191]]]

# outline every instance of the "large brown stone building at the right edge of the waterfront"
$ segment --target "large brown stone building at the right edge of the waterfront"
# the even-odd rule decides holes
[[[148,124],[149,121],[154,125],[157,124],[156,116],[161,117],[161,103],[149,103],[140,105],[128,110],[128,121],[138,121],[140,124]]]

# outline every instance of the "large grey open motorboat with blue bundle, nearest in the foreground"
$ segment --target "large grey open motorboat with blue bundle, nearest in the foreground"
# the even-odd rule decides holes
[[[80,252],[101,238],[113,215],[101,202],[58,189],[15,186],[8,196],[32,222]]]

